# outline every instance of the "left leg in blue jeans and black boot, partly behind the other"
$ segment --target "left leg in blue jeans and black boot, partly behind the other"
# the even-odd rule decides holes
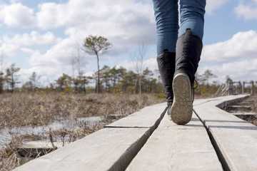
[[[153,0],[153,9],[156,17],[157,63],[169,115],[173,103],[172,81],[178,39],[178,0]]]

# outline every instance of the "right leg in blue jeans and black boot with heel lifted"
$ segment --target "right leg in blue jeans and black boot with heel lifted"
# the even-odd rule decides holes
[[[176,43],[171,119],[174,123],[184,125],[191,120],[193,113],[191,90],[203,48],[203,15],[206,1],[181,0],[180,4],[181,28]]]

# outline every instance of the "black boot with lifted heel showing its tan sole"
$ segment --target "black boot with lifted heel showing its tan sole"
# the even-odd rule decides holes
[[[192,86],[203,44],[201,38],[187,29],[176,43],[176,71],[173,78],[171,120],[178,125],[188,123],[193,114]]]

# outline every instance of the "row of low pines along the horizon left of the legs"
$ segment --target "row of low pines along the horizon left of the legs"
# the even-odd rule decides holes
[[[54,83],[49,86],[42,87],[40,84],[40,76],[32,73],[29,81],[24,83],[21,87],[16,85],[19,82],[19,71],[15,64],[11,64],[6,68],[6,72],[0,73],[0,93],[3,91],[14,93],[16,91],[33,92],[37,90],[54,90],[59,92],[70,91],[73,93],[161,93],[162,84],[160,78],[154,76],[153,71],[148,68],[143,70],[140,76],[141,84],[139,83],[139,76],[133,71],[127,71],[126,68],[117,68],[104,66],[96,71],[92,76],[84,76],[79,73],[78,76],[72,77],[67,73],[57,78]],[[141,85],[141,88],[139,88]]]

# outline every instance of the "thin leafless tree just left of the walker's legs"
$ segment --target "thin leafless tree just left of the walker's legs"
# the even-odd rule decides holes
[[[138,86],[139,94],[142,93],[141,78],[143,75],[143,58],[146,56],[147,46],[145,43],[142,43],[141,46],[138,46],[133,53],[130,54],[131,60],[133,61],[133,66],[138,74]]]

